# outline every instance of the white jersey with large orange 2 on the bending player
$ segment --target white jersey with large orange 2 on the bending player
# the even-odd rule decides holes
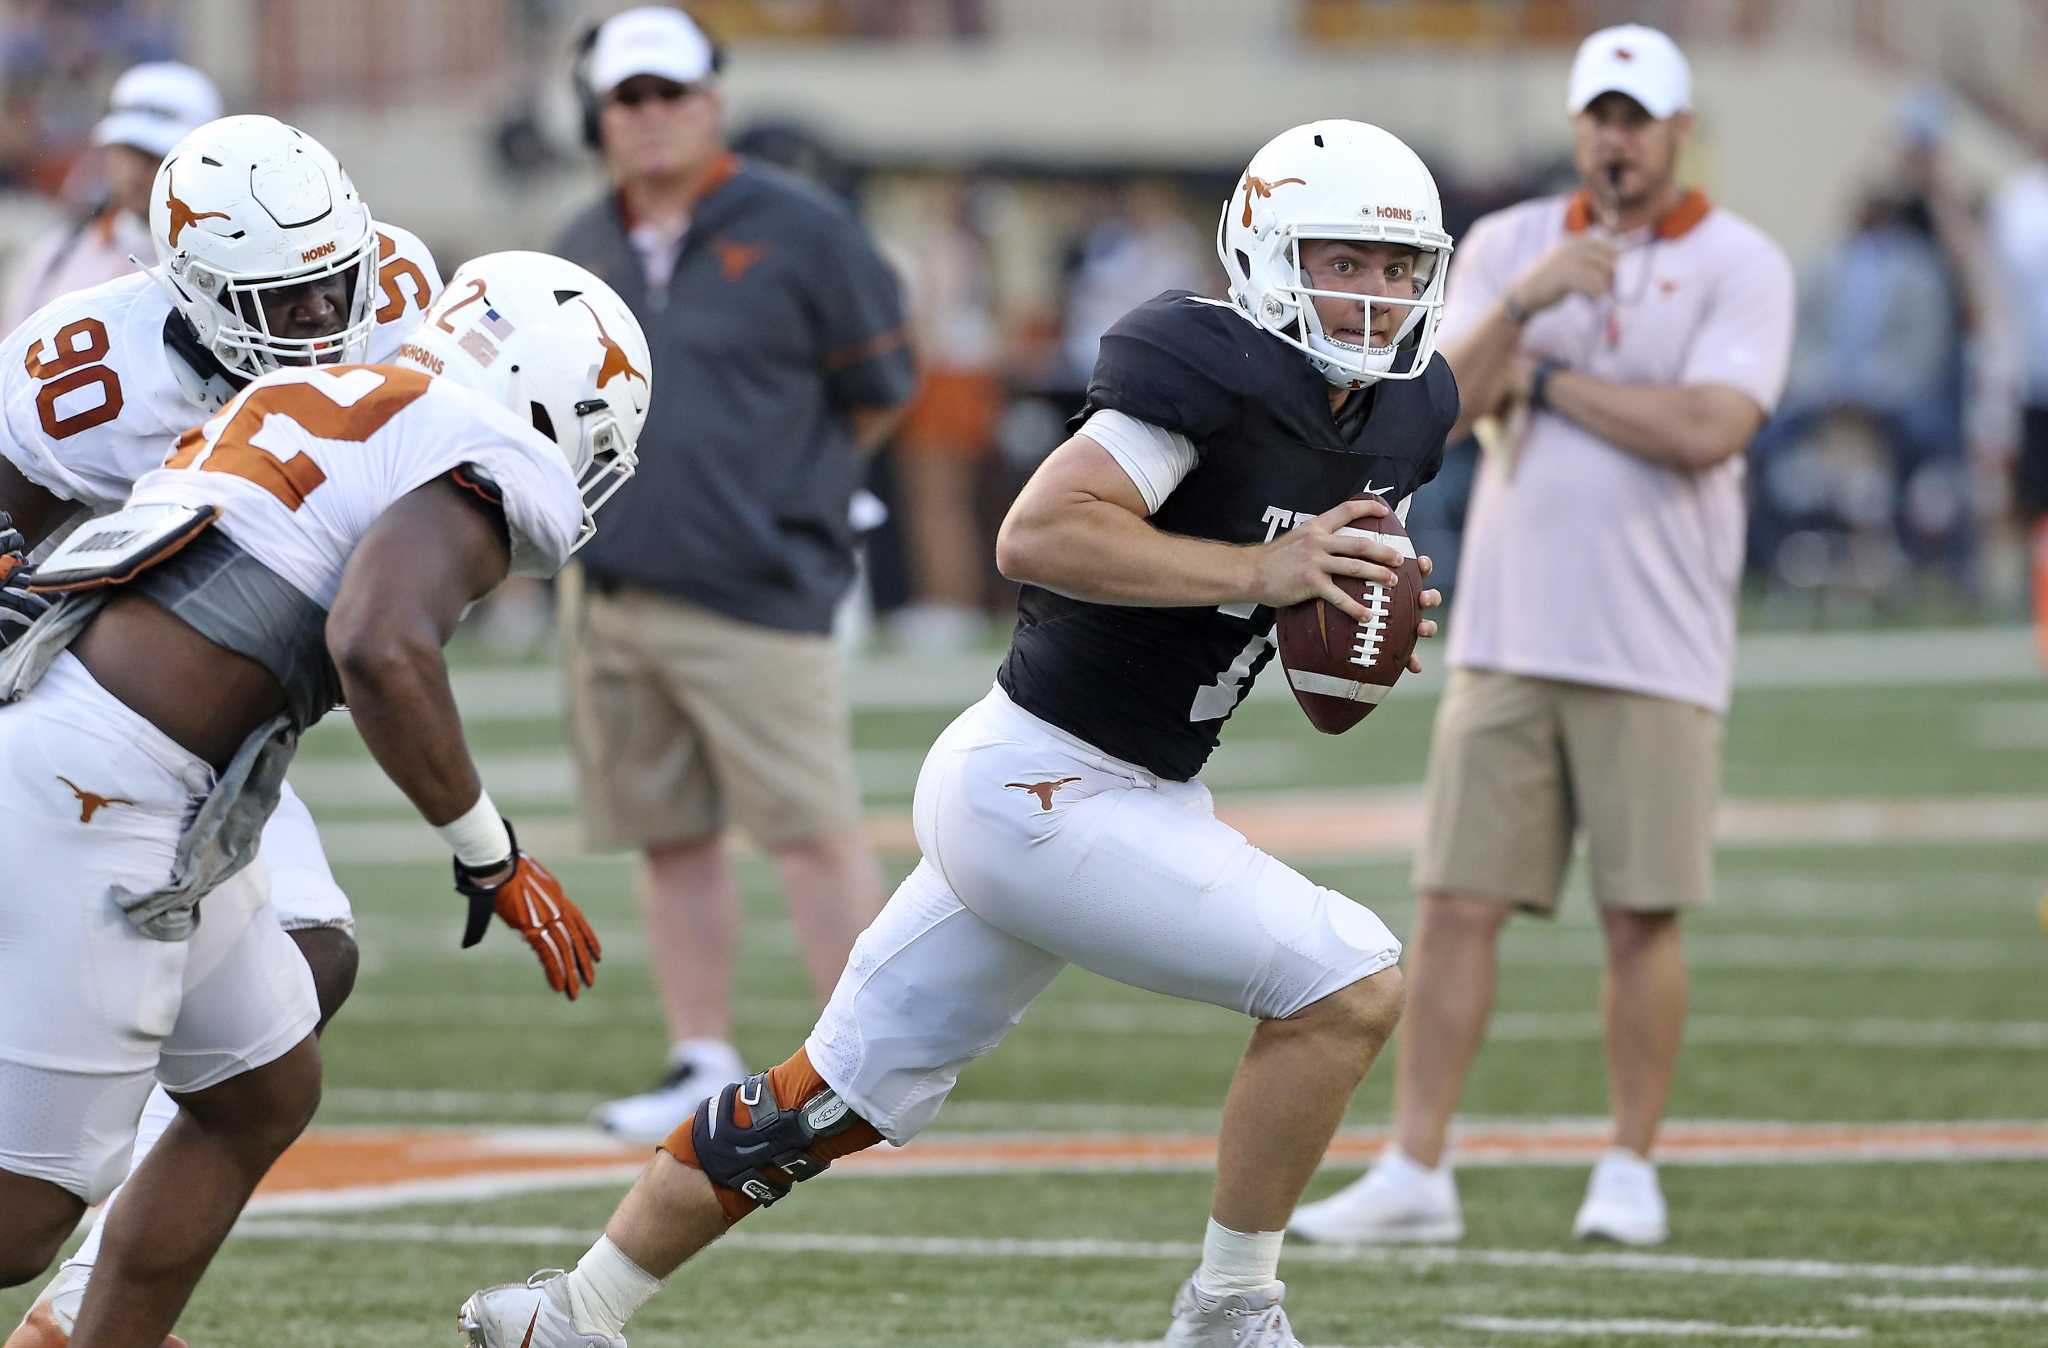
[[[135,481],[131,506],[219,506],[213,524],[322,608],[356,543],[401,496],[455,469],[496,488],[512,572],[553,576],[584,526],[561,451],[498,402],[399,365],[264,375]]]

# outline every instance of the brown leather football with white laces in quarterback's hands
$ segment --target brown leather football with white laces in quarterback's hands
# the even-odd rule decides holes
[[[1325,735],[1341,735],[1380,705],[1407,670],[1421,629],[1421,563],[1401,516],[1358,520],[1343,533],[1378,535],[1401,551],[1403,561],[1401,584],[1393,588],[1337,576],[1343,592],[1372,615],[1364,623],[1321,598],[1288,604],[1274,619],[1280,666],[1294,701]]]

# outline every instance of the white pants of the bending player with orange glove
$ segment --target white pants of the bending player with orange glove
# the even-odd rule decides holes
[[[109,895],[170,877],[211,785],[74,656],[0,707],[0,1168],[96,1203],[152,1084],[207,1090],[319,1020],[260,862],[201,901],[190,940],[150,940]]]

